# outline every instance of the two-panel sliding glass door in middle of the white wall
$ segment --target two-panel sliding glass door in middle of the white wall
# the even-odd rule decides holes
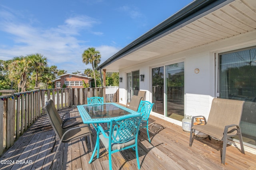
[[[184,62],[152,68],[153,111],[172,119],[184,118]]]

